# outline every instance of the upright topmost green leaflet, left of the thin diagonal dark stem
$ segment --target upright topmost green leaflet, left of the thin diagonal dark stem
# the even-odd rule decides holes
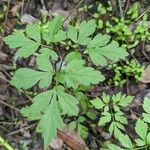
[[[43,39],[47,44],[60,42],[66,39],[66,33],[61,30],[63,19],[61,16],[55,17],[48,23],[48,31],[43,33]]]

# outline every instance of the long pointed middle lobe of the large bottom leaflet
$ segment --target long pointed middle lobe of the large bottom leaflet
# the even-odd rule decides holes
[[[57,136],[57,129],[62,128],[63,120],[59,112],[56,96],[54,95],[37,126],[37,132],[42,133],[45,150],[48,148],[52,139]]]

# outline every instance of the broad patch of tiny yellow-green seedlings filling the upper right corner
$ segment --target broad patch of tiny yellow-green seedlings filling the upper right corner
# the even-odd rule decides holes
[[[97,11],[90,15],[95,18],[97,29],[113,35],[122,47],[131,49],[141,41],[149,41],[150,30],[147,12],[140,14],[138,2],[130,7],[125,18],[112,16],[112,13],[112,6],[108,1],[108,6],[98,3]]]

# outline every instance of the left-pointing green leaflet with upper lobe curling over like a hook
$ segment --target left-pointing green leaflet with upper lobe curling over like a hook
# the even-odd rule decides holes
[[[11,84],[16,88],[29,89],[39,82],[40,88],[47,88],[52,82],[52,77],[54,75],[52,64],[49,59],[51,56],[57,56],[54,51],[49,49],[41,49],[41,54],[36,59],[36,64],[40,71],[35,71],[28,68],[18,69],[12,80]],[[55,54],[55,55],[54,55]]]

